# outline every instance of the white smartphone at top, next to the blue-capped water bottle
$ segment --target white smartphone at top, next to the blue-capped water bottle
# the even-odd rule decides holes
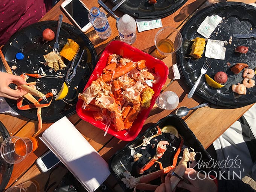
[[[65,0],[61,4],[61,8],[82,32],[86,32],[92,27],[88,19],[90,10],[81,0]]]

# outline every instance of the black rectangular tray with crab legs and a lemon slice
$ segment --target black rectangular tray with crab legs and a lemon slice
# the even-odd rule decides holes
[[[171,135],[170,133],[162,133],[162,135],[151,139],[149,145],[140,146],[139,148],[134,149],[136,153],[139,152],[140,154],[143,155],[142,157],[139,158],[137,162],[134,162],[134,159],[131,156],[131,148],[134,148],[135,146],[139,146],[145,137],[150,137],[155,133],[157,133],[157,126],[159,126],[160,128],[163,128],[166,125],[174,126],[178,130],[181,137],[183,137],[184,139],[183,148],[180,152],[179,157],[182,157],[183,149],[188,147],[188,148],[193,148],[195,152],[200,152],[200,153],[197,153],[197,155],[195,156],[197,162],[198,160],[201,160],[204,162],[209,162],[209,160],[211,160],[209,153],[204,149],[201,143],[197,140],[194,133],[189,129],[189,127],[184,122],[184,120],[178,117],[177,115],[172,115],[172,114],[168,115],[163,119],[160,119],[157,123],[155,123],[155,125],[148,128],[148,130],[145,131],[145,133],[140,134],[133,142],[128,143],[122,150],[116,152],[116,154],[114,154],[110,158],[109,168],[125,191],[133,191],[133,189],[128,189],[125,186],[125,184],[121,181],[121,179],[123,178],[123,172],[129,171],[131,175],[133,175],[134,177],[139,177],[140,175],[137,174],[137,169],[145,165],[149,161],[149,157],[152,158],[155,155],[155,152],[156,152],[155,149],[156,149],[157,143],[160,140],[167,140],[169,143],[171,143],[171,145],[167,146],[167,150],[165,154],[162,156],[162,158],[158,159],[158,161],[162,162],[163,168],[169,165],[172,165],[173,156],[175,155],[175,152],[177,151],[177,148],[180,145],[181,140],[175,137],[174,135]],[[153,144],[155,145],[154,148],[152,148]],[[173,147],[176,148],[176,150],[174,150]],[[181,158],[178,158],[178,162],[180,161],[180,159]],[[195,169],[199,170],[198,167],[195,167]],[[203,169],[204,168],[201,168],[201,170]],[[149,172],[154,172],[157,170],[159,170],[159,167],[155,163],[150,169],[145,171],[144,174],[148,174]],[[204,169],[204,171],[209,171],[209,169],[208,170]],[[161,181],[158,178],[156,180],[153,180],[151,184],[160,185]],[[137,190],[137,191],[140,191],[140,190]]]

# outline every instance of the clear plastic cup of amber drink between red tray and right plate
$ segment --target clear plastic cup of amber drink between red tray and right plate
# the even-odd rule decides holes
[[[155,47],[157,54],[166,57],[177,52],[182,44],[182,35],[174,27],[163,27],[155,35]]]

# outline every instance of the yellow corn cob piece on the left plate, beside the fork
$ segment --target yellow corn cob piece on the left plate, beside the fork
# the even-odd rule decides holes
[[[75,41],[72,39],[67,39],[67,43],[64,45],[59,54],[67,60],[71,61],[78,49],[79,45]]]

